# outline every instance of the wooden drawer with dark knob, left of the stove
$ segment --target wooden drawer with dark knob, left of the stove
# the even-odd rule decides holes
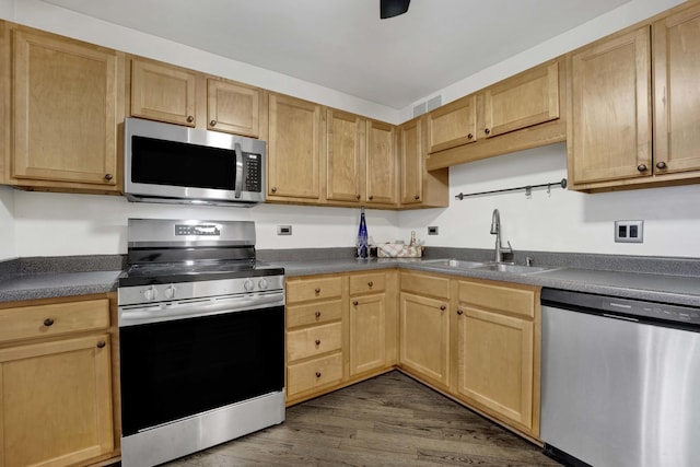
[[[105,329],[108,326],[107,299],[0,310],[0,342]]]

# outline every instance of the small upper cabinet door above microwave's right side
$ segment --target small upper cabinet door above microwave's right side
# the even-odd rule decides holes
[[[260,137],[261,92],[229,81],[207,80],[207,129]]]

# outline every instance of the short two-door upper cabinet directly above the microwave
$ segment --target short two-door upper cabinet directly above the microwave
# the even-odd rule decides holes
[[[260,137],[259,89],[141,57],[130,63],[132,117]]]

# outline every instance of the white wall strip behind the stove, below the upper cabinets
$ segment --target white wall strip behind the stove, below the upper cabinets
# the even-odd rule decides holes
[[[124,254],[129,218],[254,220],[257,247],[261,249],[353,246],[360,218],[359,209],[302,206],[186,207],[132,203],[117,196],[39,191],[15,191],[14,198],[16,254],[5,257]],[[393,211],[369,211],[370,235],[377,242],[396,238],[397,215]],[[277,225],[292,225],[292,235],[278,236]]]

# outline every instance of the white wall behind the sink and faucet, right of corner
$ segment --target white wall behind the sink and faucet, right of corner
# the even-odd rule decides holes
[[[464,192],[539,185],[567,177],[565,144],[558,143],[451,167],[450,207],[400,214],[400,236],[411,230],[427,245],[493,248],[491,214],[514,249],[645,256],[700,256],[700,185],[583,194],[552,188],[467,197]],[[614,242],[616,220],[643,220],[644,243]],[[428,236],[427,226],[440,227]]]

